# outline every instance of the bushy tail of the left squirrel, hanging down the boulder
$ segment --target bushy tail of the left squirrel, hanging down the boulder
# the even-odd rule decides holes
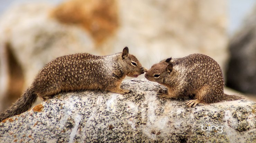
[[[33,103],[36,102],[37,95],[34,93],[33,89],[29,87],[24,94],[2,113],[0,113],[0,122],[4,119],[12,117],[14,115],[21,114],[27,111]]]

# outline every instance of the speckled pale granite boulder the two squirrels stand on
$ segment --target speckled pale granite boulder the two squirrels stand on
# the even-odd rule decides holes
[[[0,142],[256,141],[255,102],[187,108],[182,100],[158,99],[166,88],[146,79],[125,80],[122,88],[133,92],[61,93],[1,122]]]

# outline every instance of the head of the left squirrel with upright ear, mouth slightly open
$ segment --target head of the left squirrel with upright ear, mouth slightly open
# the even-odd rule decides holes
[[[138,77],[146,72],[146,68],[142,67],[139,60],[134,56],[129,54],[128,47],[125,47],[121,53],[122,65],[127,69],[127,76]]]

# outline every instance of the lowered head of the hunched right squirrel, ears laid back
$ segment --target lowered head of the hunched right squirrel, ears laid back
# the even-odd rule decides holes
[[[154,64],[145,74],[145,77],[149,81],[155,81],[159,84],[172,84],[174,81],[175,73],[177,73],[173,69],[173,61],[172,58],[167,58],[157,64]]]

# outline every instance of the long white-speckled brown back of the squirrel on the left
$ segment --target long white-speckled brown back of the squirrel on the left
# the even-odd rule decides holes
[[[38,93],[56,89],[63,91],[80,88],[84,84],[99,81],[103,74],[104,56],[79,53],[58,57],[48,63],[35,77],[33,85]],[[51,95],[49,92],[48,95]]]

